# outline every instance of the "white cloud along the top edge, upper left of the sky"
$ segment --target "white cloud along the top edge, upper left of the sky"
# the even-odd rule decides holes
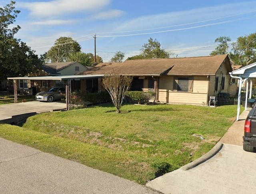
[[[18,8],[27,8],[34,17],[50,17],[74,14],[86,10],[98,10],[110,4],[110,0],[52,0],[44,2],[17,2]]]

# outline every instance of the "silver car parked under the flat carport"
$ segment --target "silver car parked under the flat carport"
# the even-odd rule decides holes
[[[52,87],[49,91],[36,94],[36,100],[52,102],[66,97],[66,89],[64,87]]]

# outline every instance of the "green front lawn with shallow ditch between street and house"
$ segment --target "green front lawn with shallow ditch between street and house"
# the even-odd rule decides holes
[[[105,104],[43,113],[23,127],[0,125],[0,137],[145,184],[208,152],[236,106],[124,105],[121,112]]]

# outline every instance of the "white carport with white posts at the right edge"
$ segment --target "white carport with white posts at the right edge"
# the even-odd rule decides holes
[[[240,113],[240,102],[241,102],[241,91],[242,84],[246,82],[246,97],[245,97],[245,110],[247,110],[247,100],[252,98],[252,79],[256,77],[256,63],[252,63],[235,71],[229,73],[230,77],[239,79],[239,89],[238,89],[238,104],[237,104],[237,114],[236,121],[239,120]],[[248,90],[250,81],[250,93],[248,98]]]

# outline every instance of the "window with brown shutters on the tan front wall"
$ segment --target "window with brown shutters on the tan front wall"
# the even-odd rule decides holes
[[[192,92],[193,77],[174,77],[174,91]]]

